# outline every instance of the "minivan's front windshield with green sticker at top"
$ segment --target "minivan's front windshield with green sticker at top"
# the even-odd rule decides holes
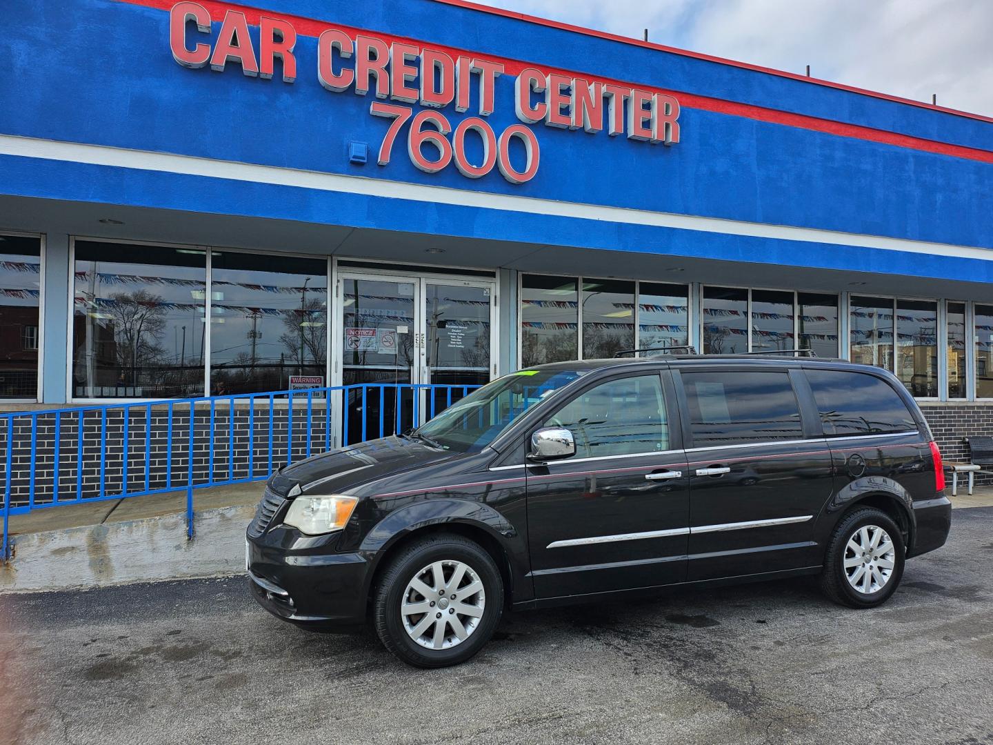
[[[521,370],[504,375],[452,404],[414,436],[460,453],[482,450],[528,408],[583,374]]]

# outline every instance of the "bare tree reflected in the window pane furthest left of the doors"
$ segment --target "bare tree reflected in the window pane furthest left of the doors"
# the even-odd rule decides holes
[[[130,384],[137,385],[138,372],[160,366],[163,349],[159,342],[166,327],[163,298],[148,290],[116,293],[113,302],[100,312],[110,316],[119,370],[130,371]]]

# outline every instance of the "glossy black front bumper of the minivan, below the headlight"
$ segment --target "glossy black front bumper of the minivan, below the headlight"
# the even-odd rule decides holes
[[[246,564],[252,596],[274,616],[300,626],[351,628],[365,622],[371,556],[336,553],[334,538],[288,547],[285,528],[248,538]]]

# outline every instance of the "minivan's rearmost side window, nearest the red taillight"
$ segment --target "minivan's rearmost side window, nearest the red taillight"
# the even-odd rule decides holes
[[[907,404],[886,381],[866,373],[807,370],[828,437],[915,431]]]

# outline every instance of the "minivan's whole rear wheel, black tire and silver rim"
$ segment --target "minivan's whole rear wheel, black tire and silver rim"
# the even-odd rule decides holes
[[[840,605],[875,608],[896,592],[905,560],[900,526],[882,510],[857,508],[828,541],[821,590]]]

